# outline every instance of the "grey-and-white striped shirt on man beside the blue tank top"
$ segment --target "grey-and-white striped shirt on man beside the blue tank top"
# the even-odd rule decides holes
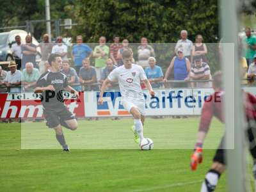
[[[207,63],[204,63],[204,62],[202,62],[202,65],[200,67],[198,67],[196,65],[193,65],[193,67],[191,68],[191,75],[196,76],[196,75],[202,75],[202,74],[210,75],[210,79],[212,79],[211,70],[210,70],[209,65]],[[198,80],[200,80],[200,79],[198,79]],[[196,87],[211,88],[212,83],[211,83],[211,81],[209,81],[209,82],[196,82]]]

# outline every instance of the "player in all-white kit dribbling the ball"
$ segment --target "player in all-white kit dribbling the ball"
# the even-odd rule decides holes
[[[152,97],[155,93],[143,68],[132,63],[132,52],[126,50],[122,53],[122,57],[124,65],[115,68],[102,84],[99,104],[103,104],[102,97],[106,85],[118,81],[122,95],[122,105],[134,117],[134,141],[138,143],[140,140],[141,143],[143,140],[143,122],[145,120],[145,97],[140,83],[145,83]]]

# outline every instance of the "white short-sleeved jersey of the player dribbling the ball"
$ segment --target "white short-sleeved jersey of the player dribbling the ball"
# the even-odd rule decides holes
[[[118,80],[122,99],[145,100],[140,82],[147,79],[147,76],[140,65],[132,64],[131,68],[125,68],[124,65],[117,67],[109,74],[108,79]]]

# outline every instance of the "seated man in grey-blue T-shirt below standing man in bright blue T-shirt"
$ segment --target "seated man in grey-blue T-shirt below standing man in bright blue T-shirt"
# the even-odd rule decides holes
[[[97,74],[94,67],[90,65],[88,58],[82,61],[83,67],[79,71],[79,82],[83,84],[83,91],[99,90],[99,86],[91,85],[97,83]]]

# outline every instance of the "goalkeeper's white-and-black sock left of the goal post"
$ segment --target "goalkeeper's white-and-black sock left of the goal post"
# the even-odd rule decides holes
[[[205,175],[205,180],[202,184],[201,192],[212,192],[215,190],[216,185],[218,184],[218,180],[220,177],[220,173],[215,170],[209,170],[209,172]]]

